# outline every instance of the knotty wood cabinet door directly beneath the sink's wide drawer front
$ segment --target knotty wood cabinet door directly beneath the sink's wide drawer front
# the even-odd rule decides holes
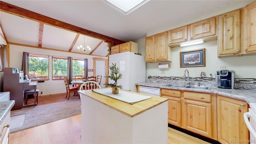
[[[212,138],[211,104],[184,99],[184,128]]]

